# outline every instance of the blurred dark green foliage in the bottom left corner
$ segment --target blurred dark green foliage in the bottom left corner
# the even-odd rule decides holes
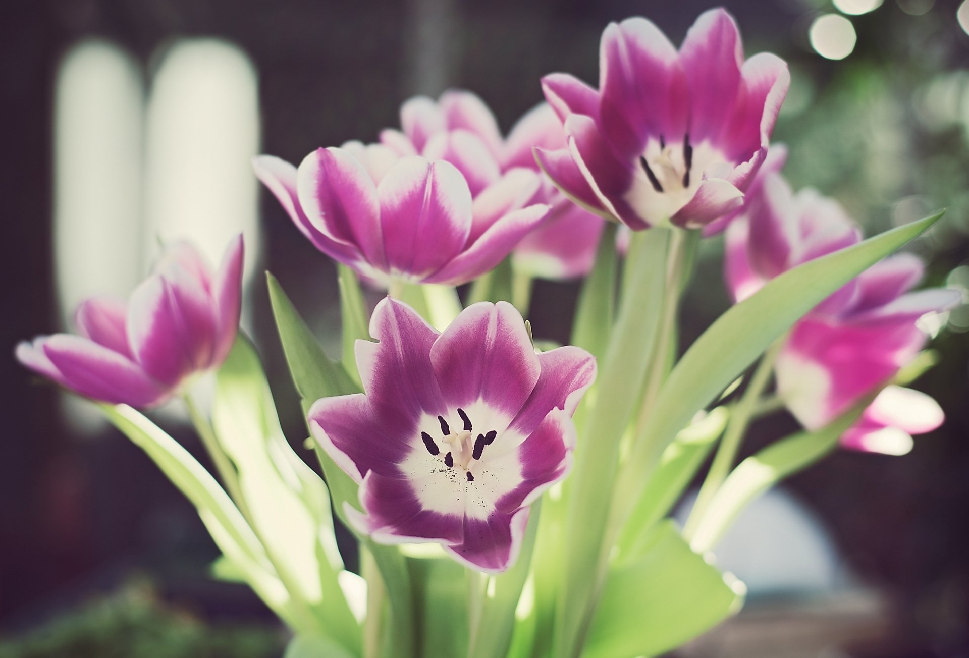
[[[0,658],[269,658],[281,654],[283,640],[258,626],[207,626],[165,605],[148,583],[133,581],[0,642]]]

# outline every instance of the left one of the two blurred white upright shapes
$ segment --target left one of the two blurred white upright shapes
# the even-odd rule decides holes
[[[127,297],[142,271],[141,71],[119,47],[87,41],[54,89],[53,248],[62,324],[93,295]]]

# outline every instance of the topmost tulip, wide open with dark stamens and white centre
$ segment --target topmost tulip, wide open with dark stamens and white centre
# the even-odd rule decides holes
[[[679,51],[645,18],[611,23],[599,89],[567,74],[542,80],[567,148],[537,148],[578,204],[633,230],[703,227],[733,212],[767,154],[787,93],[787,64],[743,60],[734,19],[703,13]]]

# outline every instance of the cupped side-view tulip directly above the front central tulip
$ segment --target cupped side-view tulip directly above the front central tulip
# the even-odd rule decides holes
[[[548,206],[532,203],[541,182],[534,172],[511,172],[472,200],[470,181],[451,163],[408,156],[389,164],[379,147],[362,148],[363,162],[329,147],[298,170],[271,156],[255,167],[303,235],[372,282],[467,283],[546,217]]]

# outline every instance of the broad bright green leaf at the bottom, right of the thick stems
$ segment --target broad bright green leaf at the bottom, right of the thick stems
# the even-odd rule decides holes
[[[704,561],[665,521],[639,559],[610,571],[582,658],[665,653],[738,611],[744,592],[743,583]]]

